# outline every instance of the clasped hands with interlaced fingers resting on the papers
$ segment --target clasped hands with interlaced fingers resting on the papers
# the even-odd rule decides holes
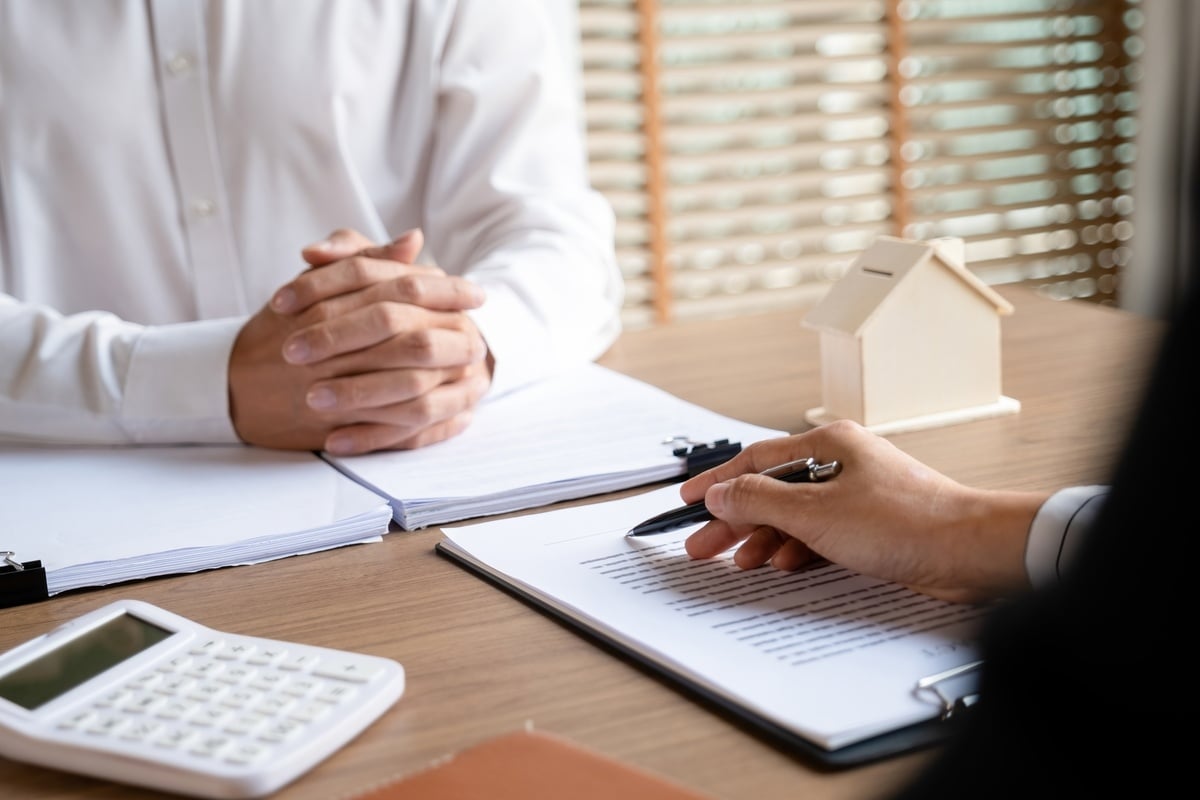
[[[491,386],[466,314],[472,282],[414,264],[412,230],[374,245],[336,230],[250,318],[229,356],[229,413],[247,444],[337,455],[421,447],[461,433]]]

